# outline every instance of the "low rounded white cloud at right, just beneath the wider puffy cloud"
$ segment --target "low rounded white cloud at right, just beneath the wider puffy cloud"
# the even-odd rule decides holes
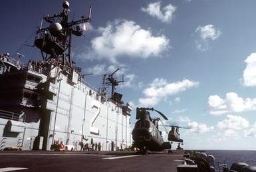
[[[219,133],[225,137],[235,137],[238,131],[248,127],[249,122],[241,116],[227,115],[227,119],[217,123]]]

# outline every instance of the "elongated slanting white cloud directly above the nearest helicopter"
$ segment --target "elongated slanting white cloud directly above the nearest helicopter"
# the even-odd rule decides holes
[[[140,98],[139,102],[141,106],[154,106],[165,98],[168,98],[168,96],[184,92],[189,88],[195,88],[198,85],[199,82],[193,82],[188,79],[168,83],[164,78],[156,78],[150,86],[143,91],[146,98]]]

